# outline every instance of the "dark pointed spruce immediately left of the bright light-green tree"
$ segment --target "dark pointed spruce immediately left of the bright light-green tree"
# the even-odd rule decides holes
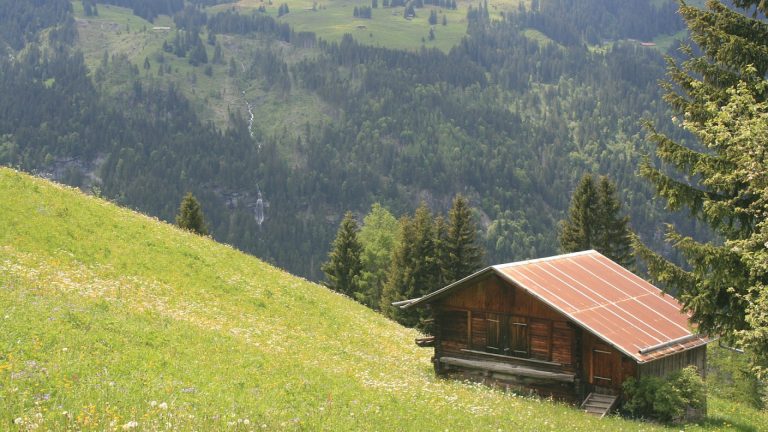
[[[347,212],[341,221],[336,239],[333,241],[328,261],[321,270],[325,273],[325,285],[342,294],[354,297],[360,291],[362,246],[357,238],[358,227],[355,216]]]

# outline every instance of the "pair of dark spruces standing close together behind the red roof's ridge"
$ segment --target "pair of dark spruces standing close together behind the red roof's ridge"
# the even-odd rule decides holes
[[[597,185],[587,174],[573,194],[568,219],[561,222],[563,252],[595,249],[624,267],[632,268],[629,217],[621,216],[616,186],[607,177]]]

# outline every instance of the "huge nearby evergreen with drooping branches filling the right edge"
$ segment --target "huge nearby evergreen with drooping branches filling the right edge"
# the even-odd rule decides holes
[[[763,0],[742,0],[764,18]],[[717,1],[680,12],[703,55],[669,61],[665,100],[700,145],[676,142],[648,125],[656,155],[670,170],[641,168],[672,209],[688,208],[723,241],[702,243],[669,227],[684,270],[636,242],[650,273],[679,292],[702,332],[740,344],[768,376],[768,268],[765,249],[768,23]]]

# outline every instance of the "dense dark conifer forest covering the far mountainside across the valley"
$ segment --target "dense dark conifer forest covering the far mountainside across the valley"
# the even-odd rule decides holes
[[[443,213],[458,193],[475,208],[488,262],[557,253],[558,221],[584,173],[610,176],[632,228],[661,249],[660,222],[671,216],[636,176],[647,152],[640,123],[681,132],[657,86],[662,55],[627,38],[678,31],[679,18],[665,12],[672,6],[542,0],[491,20],[481,5],[468,14],[467,36],[445,53],[351,37],[327,42],[260,13],[122,3],[147,18],[176,14],[180,32],[169,34],[170,50],[158,58],[187,56],[200,74],[214,55],[193,63],[193,48],[214,51],[217,35],[267,41],[242,68],[217,61],[229,62],[231,75],[264,79],[281,97],[294,89],[317,95],[333,115],[266,133],[234,110],[229,126],[217,127],[178,87],[148,78],[124,56],[105,53],[88,70],[76,38],[66,37],[76,31],[71,8],[30,2],[14,13],[44,12],[48,21],[26,25],[7,15],[15,9],[1,9],[0,34],[14,35],[6,39],[15,54],[0,60],[0,163],[168,221],[192,191],[215,238],[313,279],[345,211],[364,214],[379,202],[401,215],[423,201]],[[147,4],[155,9],[142,12]],[[590,17],[582,7],[601,13]],[[647,22],[658,28],[635,30]],[[51,27],[58,30],[41,32]],[[527,37],[529,28],[550,41]],[[592,30],[566,32],[578,28]],[[173,49],[174,38],[191,41],[189,49]],[[279,54],[286,49],[312,55],[289,62]],[[127,85],[107,94],[115,77]],[[254,217],[262,196],[263,222]]]

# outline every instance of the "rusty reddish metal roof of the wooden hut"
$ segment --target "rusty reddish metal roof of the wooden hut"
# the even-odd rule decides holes
[[[428,303],[490,272],[526,290],[639,363],[711,341],[674,297],[594,250],[488,267],[415,299]]]

